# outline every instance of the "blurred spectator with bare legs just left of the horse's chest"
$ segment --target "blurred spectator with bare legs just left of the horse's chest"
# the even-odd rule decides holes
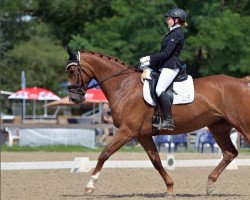
[[[102,106],[102,124],[113,124],[113,118],[108,103],[104,103]],[[99,139],[99,143],[106,145],[106,140],[110,134],[111,131],[108,127],[103,128],[103,134]]]

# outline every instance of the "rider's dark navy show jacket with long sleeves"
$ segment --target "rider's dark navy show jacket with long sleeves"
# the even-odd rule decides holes
[[[184,45],[184,33],[182,27],[170,31],[162,40],[160,53],[150,56],[150,67],[153,70],[161,68],[181,68],[179,55]]]

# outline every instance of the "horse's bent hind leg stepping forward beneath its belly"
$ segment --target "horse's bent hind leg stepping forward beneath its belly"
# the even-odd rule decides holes
[[[221,148],[223,158],[215,169],[209,174],[207,182],[207,195],[212,194],[214,182],[218,179],[222,171],[237,157],[238,151],[230,139],[230,130],[232,126],[225,121],[219,121],[208,126],[210,132],[218,146]]]

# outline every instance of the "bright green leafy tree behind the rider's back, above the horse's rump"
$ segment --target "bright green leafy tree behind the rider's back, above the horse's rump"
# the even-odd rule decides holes
[[[196,20],[199,31],[188,38],[187,45],[199,57],[203,75],[241,76],[250,72],[248,16],[225,10],[218,17],[200,16]]]

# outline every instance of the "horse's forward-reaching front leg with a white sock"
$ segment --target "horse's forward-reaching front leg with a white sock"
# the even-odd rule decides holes
[[[100,171],[105,163],[105,161],[117,150],[119,150],[122,146],[127,144],[130,140],[133,139],[132,131],[129,128],[120,128],[112,141],[108,144],[108,146],[102,151],[100,156],[98,157],[98,161],[96,167],[90,177],[88,184],[86,185],[85,191],[87,193],[92,193],[95,190],[94,184],[97,182]]]

